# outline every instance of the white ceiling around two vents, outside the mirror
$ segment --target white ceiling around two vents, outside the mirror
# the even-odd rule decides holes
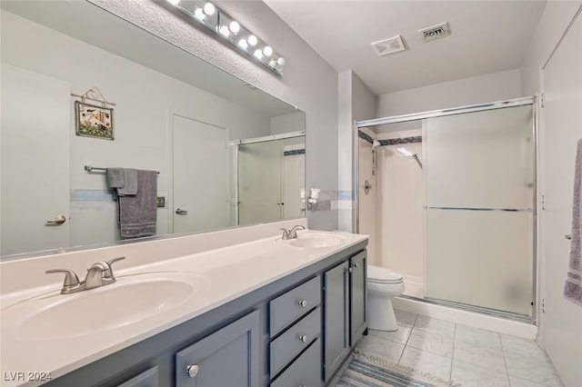
[[[516,69],[546,0],[264,0],[337,72],[353,70],[375,94]],[[423,43],[419,29],[448,22]],[[402,35],[406,50],[371,43]]]

